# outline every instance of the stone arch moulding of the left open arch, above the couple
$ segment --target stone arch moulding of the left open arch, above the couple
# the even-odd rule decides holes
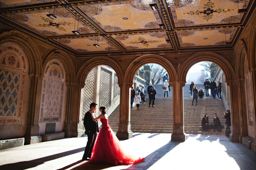
[[[108,57],[94,57],[89,59],[86,63],[84,63],[78,71],[76,82],[80,84],[84,84],[89,72],[99,65],[108,65],[112,67],[117,74],[118,84],[123,80],[123,71],[120,65],[113,59]]]

